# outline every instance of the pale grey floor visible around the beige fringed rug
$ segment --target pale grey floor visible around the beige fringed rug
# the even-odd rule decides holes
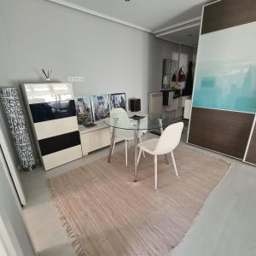
[[[124,149],[123,143],[117,145],[116,150],[120,149]],[[195,149],[228,160],[232,167],[208,197],[188,234],[172,255],[256,255],[256,168],[204,149]],[[38,168],[21,173],[27,200],[25,218],[39,256],[75,255],[50,200],[47,178],[68,172],[107,154],[108,148],[103,148],[49,172]]]

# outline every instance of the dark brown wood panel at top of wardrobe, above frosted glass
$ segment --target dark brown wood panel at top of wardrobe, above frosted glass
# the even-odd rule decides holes
[[[201,34],[256,21],[255,0],[222,0],[204,9]]]

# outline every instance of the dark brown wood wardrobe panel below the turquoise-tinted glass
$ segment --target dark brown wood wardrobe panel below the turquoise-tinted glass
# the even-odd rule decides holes
[[[243,159],[253,113],[192,108],[189,143]]]

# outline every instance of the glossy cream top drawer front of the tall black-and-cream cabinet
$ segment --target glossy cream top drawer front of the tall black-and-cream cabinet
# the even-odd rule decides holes
[[[24,90],[29,104],[73,99],[73,84],[70,83],[24,84]]]

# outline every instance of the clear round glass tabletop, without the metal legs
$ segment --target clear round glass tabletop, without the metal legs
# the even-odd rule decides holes
[[[108,118],[104,119],[104,124],[124,130],[159,130],[180,120],[181,118],[143,115],[134,118],[131,117],[128,121],[122,118]]]

